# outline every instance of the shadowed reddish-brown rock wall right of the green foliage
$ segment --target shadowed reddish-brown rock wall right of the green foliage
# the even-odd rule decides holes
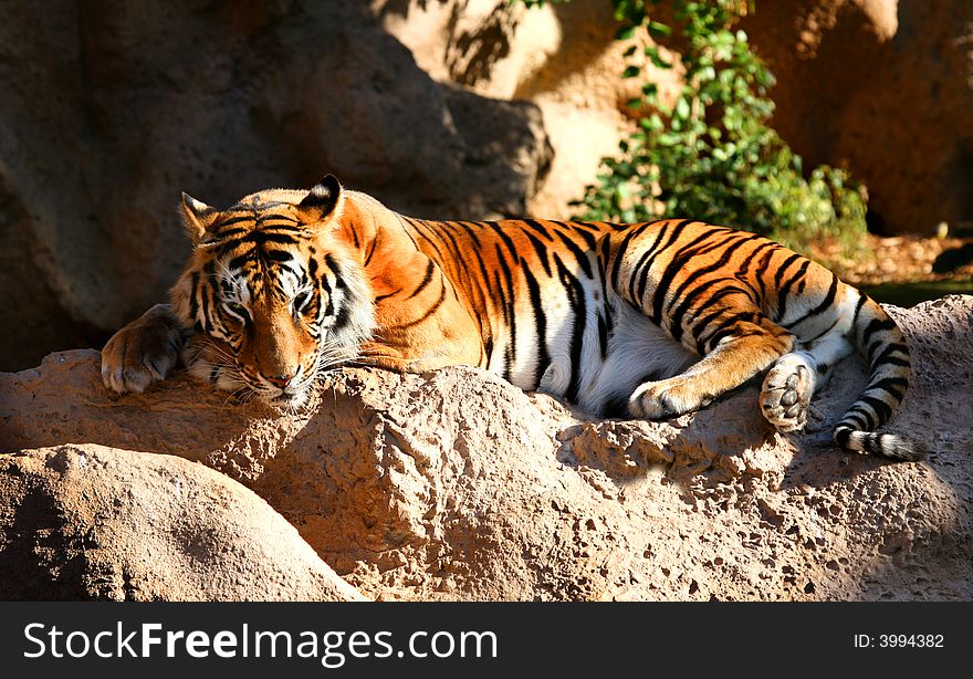
[[[762,2],[743,22],[805,167],[846,160],[885,234],[973,224],[970,0]]]

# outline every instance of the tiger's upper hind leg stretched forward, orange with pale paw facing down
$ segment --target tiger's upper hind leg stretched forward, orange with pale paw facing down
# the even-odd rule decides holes
[[[698,410],[765,370],[795,343],[755,306],[726,310],[711,325],[719,328],[715,347],[681,375],[640,385],[628,401],[634,417],[666,419]]]

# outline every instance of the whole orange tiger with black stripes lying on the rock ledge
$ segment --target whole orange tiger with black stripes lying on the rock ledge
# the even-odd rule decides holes
[[[191,254],[169,303],[105,345],[113,391],[140,393],[181,361],[218,389],[294,410],[342,366],[467,365],[597,417],[667,420],[764,375],[760,410],[792,432],[857,349],[869,380],[835,443],[924,455],[876,431],[911,379],[896,322],[827,268],[745,230],[416,219],[333,175],[226,210],[182,194],[178,211]]]

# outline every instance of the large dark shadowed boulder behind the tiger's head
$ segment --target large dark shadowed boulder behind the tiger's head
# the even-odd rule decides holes
[[[423,217],[521,215],[540,109],[440,85],[359,2],[0,7],[0,369],[163,301],[216,206],[326,173]],[[30,300],[30,304],[22,303]]]

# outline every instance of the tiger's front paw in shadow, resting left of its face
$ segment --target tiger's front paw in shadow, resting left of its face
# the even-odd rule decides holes
[[[156,304],[102,349],[102,382],[118,394],[140,394],[165,379],[182,348],[182,330],[168,304]]]

